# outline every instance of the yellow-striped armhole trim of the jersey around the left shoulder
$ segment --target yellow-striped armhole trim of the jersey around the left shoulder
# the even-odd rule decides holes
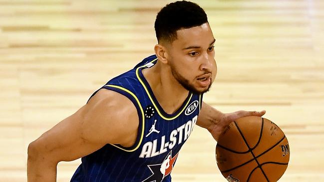
[[[110,145],[112,145],[120,150],[126,151],[126,152],[136,151],[139,148],[139,146],[141,145],[142,140],[143,140],[143,135],[144,135],[144,111],[143,111],[143,108],[142,108],[138,98],[131,91],[129,91],[123,87],[117,86],[117,85],[105,85],[102,88],[120,93],[120,94],[124,95],[125,97],[127,97],[134,104],[134,106],[137,110],[137,115],[138,115],[138,120],[139,120],[138,132],[137,132],[135,144],[131,147],[123,147],[119,144],[110,144]]]

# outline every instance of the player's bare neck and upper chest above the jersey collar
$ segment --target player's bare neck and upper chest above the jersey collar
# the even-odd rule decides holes
[[[185,89],[172,75],[171,69],[157,61],[151,68],[142,70],[155,98],[168,114],[176,112],[188,96]]]

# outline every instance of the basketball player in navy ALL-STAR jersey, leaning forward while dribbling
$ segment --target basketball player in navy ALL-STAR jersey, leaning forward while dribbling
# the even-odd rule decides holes
[[[232,121],[265,114],[225,114],[202,101],[217,67],[215,38],[200,6],[166,5],[155,30],[155,55],[108,81],[76,113],[29,144],[28,182],[55,182],[57,164],[78,158],[82,164],[71,182],[170,182],[195,125],[217,140]]]

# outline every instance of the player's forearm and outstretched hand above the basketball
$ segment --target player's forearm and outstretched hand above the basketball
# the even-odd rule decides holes
[[[263,116],[266,111],[237,111],[234,113],[222,113],[203,102],[197,125],[206,128],[217,141],[219,135],[231,122],[245,116]]]

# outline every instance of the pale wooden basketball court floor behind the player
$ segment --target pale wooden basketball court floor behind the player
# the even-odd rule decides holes
[[[153,54],[164,0],[0,0],[0,182],[25,182],[27,146],[107,80]],[[324,182],[324,1],[196,0],[216,38],[218,75],[204,101],[267,110],[290,142],[280,182]],[[174,182],[225,182],[207,130],[195,127]],[[58,165],[67,182],[80,160]]]

